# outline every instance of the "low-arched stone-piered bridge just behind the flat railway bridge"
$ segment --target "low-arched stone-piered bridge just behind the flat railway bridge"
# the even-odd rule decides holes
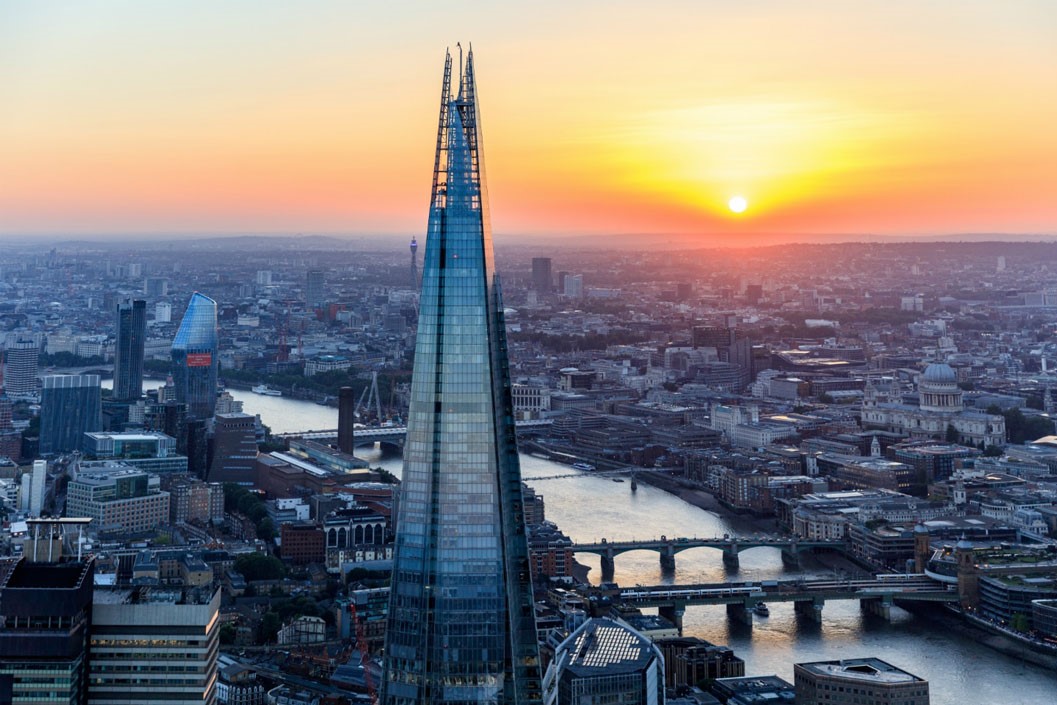
[[[782,550],[782,559],[791,565],[800,562],[799,555],[803,551],[816,551],[828,549],[831,551],[846,551],[847,544],[843,541],[822,541],[810,540],[798,537],[786,536],[734,536],[723,535],[711,538],[668,538],[662,536],[656,539],[636,539],[630,541],[610,541],[601,539],[596,543],[574,543],[571,548],[573,553],[593,553],[601,556],[602,579],[612,579],[614,559],[622,553],[630,551],[655,551],[661,555],[661,567],[675,568],[675,554],[688,551],[689,549],[717,549],[723,552],[723,562],[730,567],[738,565],[738,554],[749,549],[760,546],[772,546]]]

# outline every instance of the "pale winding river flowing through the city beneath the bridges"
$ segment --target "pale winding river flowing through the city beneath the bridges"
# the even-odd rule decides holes
[[[334,408],[230,391],[235,398],[243,401],[246,413],[261,414],[262,421],[276,432],[337,427]],[[372,465],[401,474],[396,452],[360,448],[357,454]],[[568,466],[524,454],[521,469],[525,478],[575,472]],[[590,474],[533,480],[530,484],[543,495],[548,519],[574,541],[602,537],[717,536],[733,531],[722,517],[642,482],[635,493],[627,482],[617,483]],[[580,555],[578,560],[591,567],[590,578],[597,582],[598,558]],[[672,572],[661,570],[655,553],[641,551],[617,556],[614,577],[620,585],[630,586],[757,580],[794,574],[783,569],[777,549],[742,553],[736,574],[724,569],[718,551],[693,549],[676,555]],[[817,568],[808,574],[824,575],[827,569]],[[755,617],[752,628],[729,621],[722,607],[689,608],[684,617],[684,632],[731,647],[745,660],[748,675],[777,673],[792,682],[795,662],[869,655],[928,680],[933,705],[1057,702],[1057,672],[1003,655],[945,629],[938,621],[919,619],[894,609],[892,621],[886,623],[861,614],[857,601],[845,600],[827,602],[819,626],[797,619],[792,605],[769,607],[771,616]]]

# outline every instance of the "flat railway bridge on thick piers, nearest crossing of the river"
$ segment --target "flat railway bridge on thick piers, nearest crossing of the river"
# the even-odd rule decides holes
[[[655,607],[659,614],[682,631],[683,613],[694,605],[726,605],[734,619],[752,624],[757,606],[793,602],[797,614],[820,621],[827,600],[857,599],[871,614],[889,618],[900,602],[958,602],[958,591],[916,573],[882,574],[861,580],[764,580],[753,583],[698,586],[636,586],[615,592],[604,591],[612,599],[634,607]]]

